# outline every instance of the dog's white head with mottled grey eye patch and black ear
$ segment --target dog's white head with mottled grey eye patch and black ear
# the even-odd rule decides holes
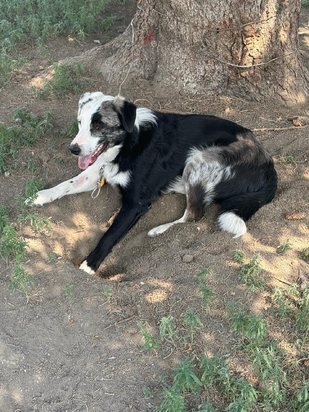
[[[78,102],[79,131],[70,144],[71,153],[79,156],[80,168],[86,169],[105,150],[121,143],[133,132],[135,119],[136,106],[121,96],[82,94]]]

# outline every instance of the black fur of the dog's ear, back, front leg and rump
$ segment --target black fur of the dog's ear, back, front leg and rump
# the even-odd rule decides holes
[[[133,126],[136,108],[132,103],[125,102],[118,113],[125,133],[120,133],[116,141],[123,145],[114,162],[119,171],[130,171],[130,180],[125,187],[119,187],[122,208],[117,218],[87,257],[91,269],[98,269],[155,197],[183,175],[192,148],[217,146],[224,150],[238,141],[244,143],[240,152],[231,150],[220,157],[220,163],[231,166],[233,172],[229,180],[219,182],[214,190],[213,201],[220,204],[222,212],[234,211],[247,220],[273,199],[277,187],[274,163],[248,129],[214,116],[155,112],[157,125],[140,126],[138,131]],[[202,189],[192,190],[191,217],[201,217]]]

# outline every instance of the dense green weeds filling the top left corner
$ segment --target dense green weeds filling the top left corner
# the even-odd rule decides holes
[[[9,53],[18,44],[35,39],[45,57],[49,53],[44,44],[50,37],[72,34],[83,40],[93,30],[108,30],[115,18],[98,17],[105,0],[10,0],[0,8],[0,82],[9,79],[25,59],[14,59]]]

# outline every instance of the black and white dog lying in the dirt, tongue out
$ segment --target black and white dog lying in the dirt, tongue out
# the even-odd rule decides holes
[[[277,175],[272,157],[250,130],[236,123],[136,108],[121,96],[101,92],[81,96],[77,119],[79,132],[70,151],[84,171],[41,190],[34,203],[94,190],[102,174],[119,188],[119,214],[80,265],[89,274],[160,193],[185,194],[187,208],[182,218],[155,227],[149,236],[199,219],[205,206],[218,203],[219,227],[238,237],[246,232],[246,220],[274,198]]]

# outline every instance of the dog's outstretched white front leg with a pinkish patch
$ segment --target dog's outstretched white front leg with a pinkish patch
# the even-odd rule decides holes
[[[78,176],[75,176],[75,178],[66,180],[66,182],[62,182],[51,189],[40,190],[40,192],[37,192],[37,198],[33,202],[31,199],[27,199],[25,204],[42,206],[68,194],[94,190],[99,179],[98,170],[99,166],[94,163]]]

